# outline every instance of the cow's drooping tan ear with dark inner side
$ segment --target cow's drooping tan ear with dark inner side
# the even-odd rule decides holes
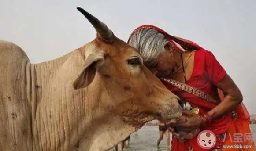
[[[97,68],[104,64],[104,52],[90,54],[82,66],[78,77],[74,80],[73,87],[75,90],[85,88],[92,83]]]

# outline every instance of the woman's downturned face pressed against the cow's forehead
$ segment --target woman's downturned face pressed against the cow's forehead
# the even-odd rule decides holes
[[[160,78],[170,75],[174,64],[174,55],[171,54],[171,51],[166,50],[165,53],[160,54],[156,61],[152,61],[146,66],[153,74]]]

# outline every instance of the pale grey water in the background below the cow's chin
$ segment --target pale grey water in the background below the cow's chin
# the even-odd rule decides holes
[[[251,125],[251,130],[255,142],[256,124]],[[163,140],[159,145],[160,148],[156,147],[158,137],[159,131],[157,126],[144,126],[139,129],[137,133],[135,132],[131,135],[130,146],[125,147],[124,151],[167,151],[167,148],[165,147],[165,136],[163,136]],[[119,151],[121,150],[121,144],[119,144],[118,149]],[[110,151],[115,151],[115,148],[112,148]]]

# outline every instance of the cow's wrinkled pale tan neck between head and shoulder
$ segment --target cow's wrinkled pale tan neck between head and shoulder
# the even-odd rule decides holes
[[[36,151],[107,151],[135,130],[104,108],[100,80],[94,80],[87,88],[73,89],[77,68],[85,60],[85,49],[31,65]]]

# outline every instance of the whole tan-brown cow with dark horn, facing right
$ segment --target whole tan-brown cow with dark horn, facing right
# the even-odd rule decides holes
[[[138,51],[77,9],[96,38],[60,58],[32,64],[0,40],[0,151],[107,151],[146,122],[181,117]]]

